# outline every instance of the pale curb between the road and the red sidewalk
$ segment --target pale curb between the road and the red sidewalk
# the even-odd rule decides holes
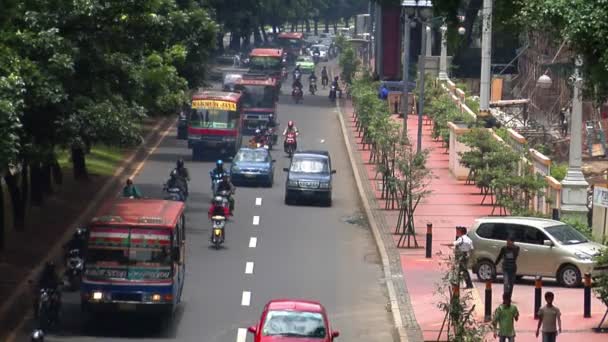
[[[388,290],[389,296],[389,305],[390,310],[393,316],[393,322],[395,324],[396,329],[396,338],[400,342],[415,342],[408,337],[408,330],[420,330],[419,327],[407,327],[403,324],[401,307],[399,304],[399,299],[397,296],[397,291],[395,290],[395,286],[393,284],[393,274],[391,272],[390,262],[388,253],[386,251],[386,246],[384,241],[382,240],[382,232],[378,227],[378,223],[374,218],[372,213],[372,209],[370,203],[365,195],[365,190],[362,186],[361,176],[359,174],[359,169],[357,168],[357,163],[355,161],[355,157],[352,151],[352,147],[350,145],[350,139],[348,137],[348,130],[346,128],[346,124],[344,123],[342,108],[340,107],[340,101],[336,101],[336,108],[338,109],[338,119],[340,121],[340,127],[342,129],[342,135],[344,138],[344,144],[346,145],[346,150],[348,152],[348,159],[350,160],[351,168],[353,170],[353,174],[355,177],[355,183],[357,184],[357,190],[359,192],[359,197],[361,202],[363,203],[363,208],[365,210],[365,215],[367,217],[367,221],[369,222],[370,228],[372,230],[372,234],[374,235],[374,240],[376,241],[376,247],[378,248],[378,252],[380,253],[380,258],[382,259],[382,270],[384,272],[384,280],[386,282],[386,288]],[[403,281],[403,280],[399,280]],[[422,335],[421,333],[419,334]]]

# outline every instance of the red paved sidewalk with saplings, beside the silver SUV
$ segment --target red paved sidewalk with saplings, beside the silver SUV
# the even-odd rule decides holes
[[[352,109],[347,107],[346,125],[354,132],[355,122]],[[395,120],[402,122],[396,116]],[[413,141],[416,137],[417,117],[408,118],[408,133]],[[357,139],[358,141],[360,139]],[[421,247],[425,243],[425,227],[428,222],[433,224],[433,258],[425,258],[424,248],[419,249],[399,249],[404,280],[407,285],[410,300],[414,308],[416,319],[423,330],[423,335],[427,341],[436,341],[439,330],[444,319],[444,313],[437,308],[439,297],[435,294],[437,283],[442,277],[440,257],[435,253],[451,253],[448,247],[440,246],[442,243],[453,241],[455,227],[457,225],[471,226],[475,218],[490,215],[492,207],[480,205],[482,196],[475,185],[465,185],[462,181],[457,181],[448,169],[448,154],[445,147],[440,142],[431,138],[431,126],[423,126],[422,147],[430,149],[428,166],[433,172],[431,190],[433,193],[421,203],[416,211],[415,223],[418,230],[417,240]],[[356,151],[361,154],[362,160],[369,160],[369,151],[362,150],[362,145],[357,144]],[[384,202],[380,199],[380,185],[374,179],[376,170],[374,165],[366,164],[367,179],[372,183],[376,191],[376,210],[381,210],[391,231],[397,222],[398,211],[384,210]],[[489,202],[489,201],[486,201]],[[394,237],[395,246],[398,237]],[[474,278],[474,276],[473,276]],[[484,284],[475,282],[477,293],[473,293],[476,298],[476,308],[478,309],[479,319],[483,319],[483,302],[480,300],[484,295]],[[583,291],[582,289],[565,289],[555,287],[554,282],[549,282],[545,290],[551,290],[556,294],[555,305],[562,311],[562,322],[564,325],[562,341],[574,341],[575,339],[585,339],[585,342],[608,341],[608,335],[596,334],[592,328],[596,327],[603,316],[606,307],[595,297],[592,299],[592,318],[583,318]],[[493,285],[493,309],[500,304],[502,294],[502,284]],[[538,341],[534,337],[537,321],[534,320],[534,284],[531,280],[524,279],[516,284],[514,289],[514,303],[520,311],[520,320],[516,324],[517,341]],[[443,334],[442,340],[446,340]]]

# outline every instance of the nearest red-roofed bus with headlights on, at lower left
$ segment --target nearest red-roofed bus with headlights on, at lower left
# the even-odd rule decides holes
[[[107,202],[88,226],[82,309],[174,312],[186,276],[184,210],[177,201]]]

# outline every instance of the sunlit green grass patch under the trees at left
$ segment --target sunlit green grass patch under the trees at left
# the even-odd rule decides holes
[[[91,148],[91,153],[86,156],[87,170],[91,174],[111,176],[120,161],[124,159],[124,152],[125,150],[120,147],[96,145]],[[57,151],[57,159],[62,168],[72,167],[68,151]]]

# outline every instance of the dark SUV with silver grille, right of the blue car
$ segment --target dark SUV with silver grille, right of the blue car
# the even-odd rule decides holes
[[[301,151],[293,154],[285,183],[285,204],[299,198],[320,200],[325,206],[332,202],[331,158],[327,151]]]

